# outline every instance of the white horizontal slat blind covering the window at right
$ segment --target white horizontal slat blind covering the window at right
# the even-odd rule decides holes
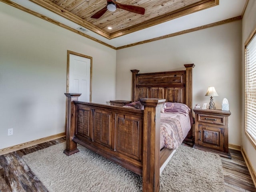
[[[256,142],[256,35],[245,50],[245,88],[246,88],[246,131]]]

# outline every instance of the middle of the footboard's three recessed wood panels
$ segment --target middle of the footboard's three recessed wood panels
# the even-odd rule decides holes
[[[110,148],[111,112],[102,110],[94,111],[94,129],[92,132],[94,142]]]

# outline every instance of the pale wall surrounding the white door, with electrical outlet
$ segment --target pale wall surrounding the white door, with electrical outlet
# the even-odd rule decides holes
[[[93,58],[92,102],[115,98],[116,50],[3,2],[0,18],[0,149],[65,132],[67,50]]]

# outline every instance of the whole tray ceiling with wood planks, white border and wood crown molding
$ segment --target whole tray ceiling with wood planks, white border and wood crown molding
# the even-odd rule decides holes
[[[122,49],[241,20],[248,0],[117,0],[145,8],[117,8],[91,18],[112,0],[0,0],[113,49]],[[108,29],[112,27],[112,29]]]

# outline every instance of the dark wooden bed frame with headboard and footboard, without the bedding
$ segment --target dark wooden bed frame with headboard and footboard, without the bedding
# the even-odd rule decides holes
[[[192,70],[138,74],[132,72],[132,102],[144,110],[79,102],[80,94],[67,96],[66,150],[78,152],[77,143],[142,176],[143,192],[160,190],[160,167],[173,150],[160,150],[160,108],[180,102],[192,109]],[[187,142],[193,142],[192,128]]]

